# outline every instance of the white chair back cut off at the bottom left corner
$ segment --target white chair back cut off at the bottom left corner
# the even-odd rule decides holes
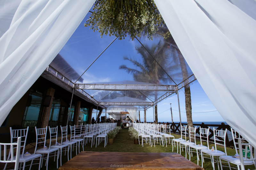
[[[15,163],[14,170],[19,169],[19,162],[20,162],[20,144],[21,144],[21,137],[17,138],[17,143],[11,143],[11,144],[5,144],[5,143],[0,143],[0,150],[2,151],[2,146],[4,148],[4,155],[2,156],[0,152],[0,162],[1,163]],[[10,155],[11,155],[11,160],[6,157],[6,152],[7,152],[7,146],[10,146]],[[16,159],[14,160],[14,152],[13,148],[17,148],[16,150]],[[8,156],[9,157],[9,156]]]

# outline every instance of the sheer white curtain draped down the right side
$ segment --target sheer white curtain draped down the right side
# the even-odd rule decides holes
[[[155,0],[220,115],[256,146],[256,1],[244,2]]]

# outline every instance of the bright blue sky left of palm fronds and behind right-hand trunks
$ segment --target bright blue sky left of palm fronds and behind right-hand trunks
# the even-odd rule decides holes
[[[66,45],[61,49],[60,55],[76,70],[78,74],[82,74],[89,65],[100,55],[100,53],[115,39],[114,36],[106,36],[100,38],[99,32],[93,32],[90,27],[84,27],[84,23],[90,14],[88,13],[75,33],[68,40]],[[149,46],[157,43],[158,40],[143,41]],[[134,67],[128,61],[123,60],[124,55],[136,58],[141,62],[141,56],[137,54],[135,46],[140,45],[137,40],[132,41],[129,38],[124,40],[116,39],[113,44],[99,57],[98,60],[85,72],[82,76],[84,83],[111,82],[133,80],[131,74],[125,70],[119,70],[122,64],[127,67]],[[212,102],[209,100],[200,84],[196,81],[191,88],[192,100],[192,119],[194,122],[219,122],[224,121],[220,116]],[[179,91],[181,121],[186,122],[185,112],[185,94],[184,89]],[[172,103],[173,121],[179,122],[177,95],[174,95],[158,104],[158,121],[171,122],[170,103]],[[166,111],[167,110],[167,111]],[[214,111],[214,112],[209,112]],[[198,113],[204,112],[204,113]],[[147,121],[152,122],[152,108],[147,111]],[[92,115],[96,116],[96,114]],[[141,111],[141,121],[143,121],[143,111]]]

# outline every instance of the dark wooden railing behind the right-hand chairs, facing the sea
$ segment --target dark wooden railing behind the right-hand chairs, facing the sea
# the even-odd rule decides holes
[[[179,134],[180,135],[180,123],[170,123],[171,125],[171,132],[172,133],[175,133],[175,134]],[[186,126],[188,125],[187,123],[181,123],[182,126]],[[229,146],[229,147],[234,147],[234,142],[233,142],[233,138],[232,138],[232,132],[231,132],[231,129],[230,129],[230,126],[229,125],[225,125],[225,123],[221,123],[220,125],[218,124],[193,124],[194,127],[196,127],[196,134],[198,134],[196,136],[197,139],[200,139],[200,127],[201,128],[208,128],[210,127],[210,130],[209,130],[209,142],[214,142],[214,139],[213,139],[213,129],[211,129],[212,127],[214,127],[214,129],[217,129],[217,130],[226,130],[227,129],[227,136],[226,136],[226,146]],[[187,128],[187,133],[186,133],[186,136],[188,137],[188,128]],[[204,136],[204,137],[207,137],[207,136]],[[224,139],[221,138],[221,137],[218,137],[219,141],[218,143],[220,144],[224,144]]]

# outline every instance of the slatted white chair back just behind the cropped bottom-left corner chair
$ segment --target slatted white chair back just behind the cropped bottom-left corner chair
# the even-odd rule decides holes
[[[27,127],[27,129],[14,129],[14,130],[12,130],[12,127],[10,127],[10,134],[11,134],[11,143],[17,143],[18,138],[21,137],[20,149],[22,148],[22,158],[23,158],[24,151],[25,151],[25,145],[26,145],[26,141],[27,141],[27,136],[28,136],[28,127]],[[16,148],[16,147],[14,147],[14,148]],[[11,150],[10,150],[9,154],[11,154]],[[10,158],[10,156],[8,156],[8,159],[9,158]]]

